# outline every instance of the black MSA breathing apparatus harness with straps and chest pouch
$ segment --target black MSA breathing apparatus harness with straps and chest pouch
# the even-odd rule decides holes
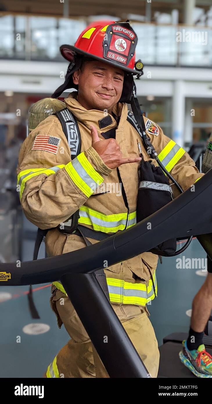
[[[81,151],[81,135],[76,117],[67,108],[63,108],[60,111],[55,112],[53,115],[57,116],[61,123],[63,133],[65,134],[70,148],[71,160],[73,160],[78,156],[78,154],[80,154]],[[150,143],[150,138],[147,137],[145,134],[144,141],[144,134],[141,132],[140,126],[136,121],[134,114],[129,110],[127,120],[139,133],[143,141],[143,145],[147,150],[147,153],[150,154],[151,157],[155,158],[155,156],[157,156],[157,153],[153,145]],[[144,120],[143,125],[143,128],[145,130]],[[166,177],[166,175],[164,175],[164,172],[160,167],[155,167],[153,164],[151,164],[151,161],[144,161],[144,159],[142,159],[141,165],[139,167],[139,177],[140,183],[136,207],[136,223],[139,223],[146,217],[150,216],[152,213],[156,212],[172,200],[172,188],[168,183],[168,178]],[[122,197],[126,198],[126,196],[124,195],[123,187]],[[101,231],[94,231],[85,226],[79,225],[79,218],[79,210],[77,210],[71,217],[69,217],[67,221],[59,224],[57,228],[62,233],[74,233],[78,236],[83,237],[87,246],[91,244],[87,238],[101,241],[111,236],[111,234],[105,234]],[[51,229],[38,229],[34,249],[34,259],[37,259],[38,257],[38,251],[42,239]],[[170,257],[174,255],[176,251],[176,239],[167,240],[166,242],[160,244],[160,246],[156,246],[150,251],[154,254]]]

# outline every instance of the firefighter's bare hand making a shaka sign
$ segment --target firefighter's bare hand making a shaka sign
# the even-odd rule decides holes
[[[122,158],[122,151],[115,139],[99,139],[97,129],[90,126],[92,136],[92,147],[97,151],[105,165],[111,169],[117,168],[122,164],[136,163],[141,161],[141,157]]]

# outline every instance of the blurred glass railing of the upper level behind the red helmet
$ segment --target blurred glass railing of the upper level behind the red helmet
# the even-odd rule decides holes
[[[83,19],[0,17],[0,58],[63,61],[61,44],[74,44],[86,27]],[[136,57],[148,65],[212,66],[212,27],[132,23]]]

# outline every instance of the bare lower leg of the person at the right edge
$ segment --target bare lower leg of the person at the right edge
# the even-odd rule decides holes
[[[203,332],[212,310],[212,274],[208,276],[192,303],[191,328]]]

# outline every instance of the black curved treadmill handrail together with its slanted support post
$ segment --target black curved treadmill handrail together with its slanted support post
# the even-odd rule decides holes
[[[61,280],[82,324],[110,377],[149,377],[136,349],[115,315],[93,272],[130,259],[173,237],[199,236],[212,259],[212,170],[175,200],[131,229],[92,246],[56,257],[0,264],[11,278],[0,286],[27,285]],[[149,229],[151,223],[151,230]],[[83,298],[82,298],[83,296]],[[85,305],[85,301],[87,304]],[[92,318],[95,321],[92,322]],[[103,343],[107,335],[108,343]]]

